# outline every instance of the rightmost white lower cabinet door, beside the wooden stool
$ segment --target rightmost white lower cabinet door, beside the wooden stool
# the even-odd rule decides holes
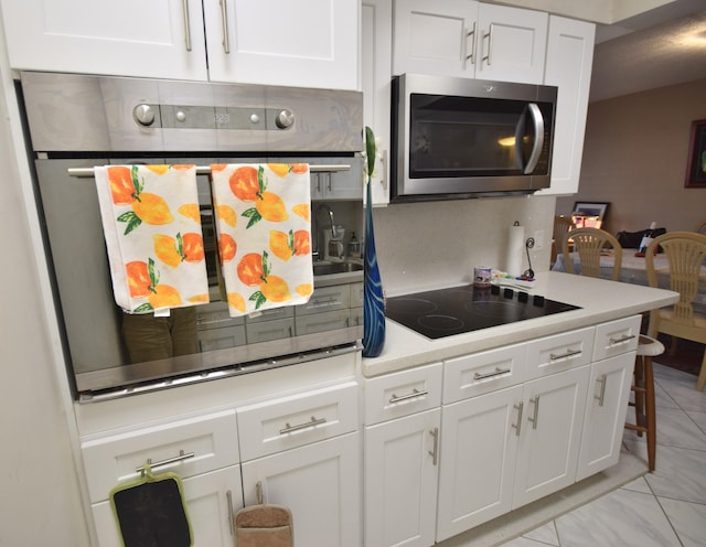
[[[618,463],[634,360],[629,352],[591,367],[577,481]]]

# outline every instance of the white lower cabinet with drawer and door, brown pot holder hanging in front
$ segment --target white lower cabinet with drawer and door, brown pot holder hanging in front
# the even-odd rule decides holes
[[[238,408],[245,504],[288,506],[295,545],[361,545],[357,396],[347,382]]]

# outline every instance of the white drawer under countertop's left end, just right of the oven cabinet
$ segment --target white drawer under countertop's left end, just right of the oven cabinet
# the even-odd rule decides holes
[[[365,425],[409,416],[441,405],[441,363],[366,379]]]

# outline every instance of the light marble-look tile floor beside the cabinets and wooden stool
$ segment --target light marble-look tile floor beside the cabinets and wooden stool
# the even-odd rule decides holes
[[[502,547],[706,547],[706,390],[656,363],[654,376],[655,472]],[[625,431],[623,441],[646,462],[644,437]]]

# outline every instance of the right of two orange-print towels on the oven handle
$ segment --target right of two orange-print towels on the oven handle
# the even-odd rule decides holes
[[[313,292],[307,163],[211,165],[231,317],[301,304]]]

